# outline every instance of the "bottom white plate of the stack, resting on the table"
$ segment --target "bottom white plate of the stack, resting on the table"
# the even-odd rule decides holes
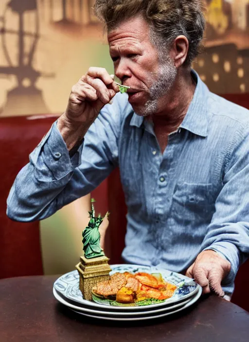
[[[95,319],[100,319],[100,320],[108,320],[108,321],[143,321],[143,320],[151,320],[151,319],[155,319],[155,318],[161,318],[161,317],[164,317],[164,316],[173,315],[174,313],[177,313],[177,312],[182,311],[182,310],[184,310],[186,308],[189,308],[191,305],[196,303],[196,301],[200,298],[201,293],[202,293],[202,288],[199,288],[197,294],[187,304],[185,304],[181,308],[178,308],[176,310],[172,310],[170,312],[166,312],[166,313],[163,313],[163,314],[160,314],[160,315],[157,315],[157,314],[156,315],[151,315],[151,313],[149,313],[147,316],[141,316],[141,317],[136,317],[135,316],[135,317],[125,317],[125,318],[117,317],[116,318],[116,317],[89,315],[89,314],[77,311],[75,309],[72,309],[72,308],[70,308],[70,310],[72,310],[72,311],[74,311],[76,313],[79,313],[80,315],[84,315],[84,316],[87,316],[87,317],[91,317],[91,318],[95,318]]]

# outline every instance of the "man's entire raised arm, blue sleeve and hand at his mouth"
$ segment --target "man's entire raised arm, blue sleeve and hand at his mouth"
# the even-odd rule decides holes
[[[73,86],[66,112],[30,154],[29,164],[10,190],[11,219],[30,222],[49,217],[92,191],[113,170],[122,108],[119,99],[107,103],[116,92],[102,68],[90,68]]]

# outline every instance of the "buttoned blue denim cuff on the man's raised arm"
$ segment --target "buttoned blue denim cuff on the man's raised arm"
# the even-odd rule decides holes
[[[53,179],[59,180],[81,164],[82,149],[83,143],[70,158],[67,145],[58,130],[57,121],[55,121],[50,131],[31,154],[31,160],[37,166],[39,161],[42,165],[45,164],[53,174]]]

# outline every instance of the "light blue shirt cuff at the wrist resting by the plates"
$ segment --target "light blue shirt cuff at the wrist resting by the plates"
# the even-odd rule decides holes
[[[219,241],[213,243],[210,247],[205,248],[204,251],[210,249],[217,252],[231,263],[231,271],[223,279],[222,284],[229,285],[233,283],[240,265],[240,253],[238,248],[231,242]]]

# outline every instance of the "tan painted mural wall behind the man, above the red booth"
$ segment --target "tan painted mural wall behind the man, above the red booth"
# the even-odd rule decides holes
[[[0,116],[61,113],[91,65],[112,62],[94,0],[0,1]],[[249,91],[249,0],[207,0],[193,68],[216,93]]]

